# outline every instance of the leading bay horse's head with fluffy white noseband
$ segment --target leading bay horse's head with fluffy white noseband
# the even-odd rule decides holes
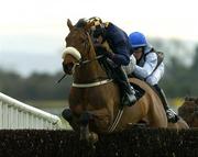
[[[89,35],[90,25],[85,20],[79,20],[73,25],[67,21],[69,33],[65,37],[66,49],[63,54],[63,64],[67,67],[69,75],[73,74],[75,65],[84,64],[85,60],[92,60],[96,57],[95,48]]]

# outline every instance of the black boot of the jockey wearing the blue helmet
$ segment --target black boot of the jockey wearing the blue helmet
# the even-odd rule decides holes
[[[169,108],[164,91],[158,87],[158,85],[155,85],[154,88],[156,89],[156,91],[157,91],[157,93],[158,93],[158,96],[163,102],[164,110],[166,112],[166,116],[167,116],[168,122],[176,123],[179,120],[179,116],[175,113],[174,110],[172,110]]]

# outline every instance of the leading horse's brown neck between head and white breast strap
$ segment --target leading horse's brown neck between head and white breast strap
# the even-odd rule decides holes
[[[97,60],[77,67],[74,75],[74,81],[78,83],[90,83],[105,78],[108,78],[108,76]]]

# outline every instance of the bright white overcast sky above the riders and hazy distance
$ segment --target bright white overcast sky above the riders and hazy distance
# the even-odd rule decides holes
[[[197,3],[196,0],[0,0],[0,58],[2,53],[54,54],[61,58],[68,33],[67,19],[76,23],[90,16],[113,22],[128,34],[140,31],[148,37],[198,42]]]

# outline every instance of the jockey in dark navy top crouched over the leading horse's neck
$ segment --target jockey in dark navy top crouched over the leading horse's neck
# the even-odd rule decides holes
[[[100,18],[90,18],[90,34],[98,55],[105,55],[108,67],[113,72],[113,79],[119,83],[121,90],[121,103],[132,105],[136,101],[135,91],[128,80],[122,66],[130,64],[130,43],[128,35],[114,24],[103,23]],[[109,45],[109,49],[105,46]]]

